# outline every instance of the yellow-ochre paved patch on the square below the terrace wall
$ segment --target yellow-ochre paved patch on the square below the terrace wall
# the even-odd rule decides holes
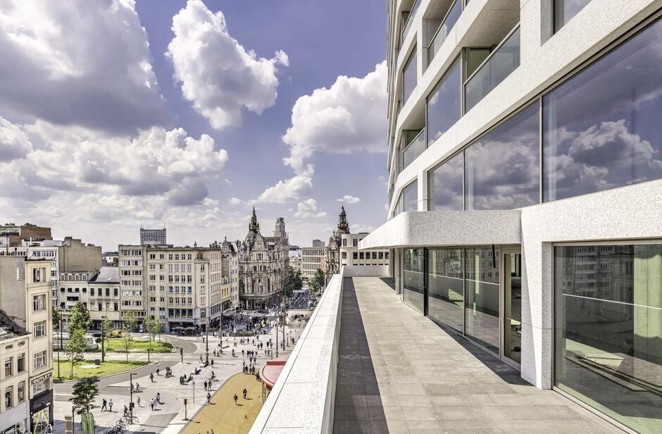
[[[247,399],[242,397],[244,387],[248,390]],[[232,399],[235,393],[239,405]],[[196,414],[182,434],[206,434],[212,429],[214,434],[248,433],[261,409],[262,383],[255,376],[238,373],[227,380],[211,398],[211,404],[206,404]]]

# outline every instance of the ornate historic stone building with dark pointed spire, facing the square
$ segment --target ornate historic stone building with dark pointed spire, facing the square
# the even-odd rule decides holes
[[[237,250],[239,304],[242,309],[268,309],[269,306],[279,304],[289,268],[289,240],[285,232],[285,219],[277,218],[273,237],[265,237],[260,232],[254,208],[246,238],[243,242],[237,240],[232,244],[232,247],[227,247]]]

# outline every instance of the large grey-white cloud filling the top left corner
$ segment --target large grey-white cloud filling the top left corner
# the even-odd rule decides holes
[[[167,122],[130,0],[0,2],[0,109],[135,133]]]

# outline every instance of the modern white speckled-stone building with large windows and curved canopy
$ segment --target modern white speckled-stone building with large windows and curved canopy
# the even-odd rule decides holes
[[[662,432],[662,1],[388,2],[403,301],[614,424]]]

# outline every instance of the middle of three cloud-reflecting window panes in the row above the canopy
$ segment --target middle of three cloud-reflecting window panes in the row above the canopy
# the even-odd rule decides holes
[[[539,203],[538,117],[534,102],[466,149],[467,209]]]

